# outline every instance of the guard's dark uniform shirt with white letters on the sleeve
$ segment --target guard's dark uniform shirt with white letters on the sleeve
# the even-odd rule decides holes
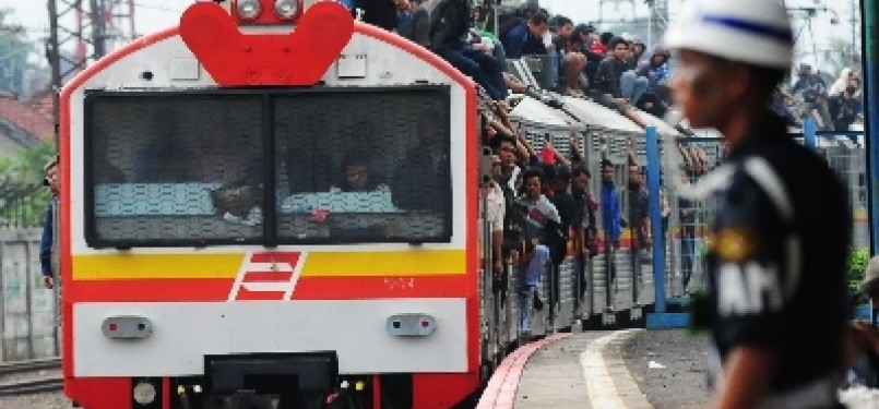
[[[851,218],[827,163],[765,113],[734,148],[709,242],[709,305],[721,359],[737,346],[774,348],[772,390],[840,366],[848,314]]]

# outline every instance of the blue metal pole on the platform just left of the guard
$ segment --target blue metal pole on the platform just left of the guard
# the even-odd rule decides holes
[[[660,215],[660,141],[656,128],[648,128],[648,192],[650,199],[650,227],[653,234],[653,291],[657,313],[665,312],[665,242]]]

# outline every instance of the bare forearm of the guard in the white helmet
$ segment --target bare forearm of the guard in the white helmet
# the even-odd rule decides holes
[[[724,382],[712,404],[714,409],[753,408],[769,390],[779,354],[768,347],[741,345],[726,359]]]

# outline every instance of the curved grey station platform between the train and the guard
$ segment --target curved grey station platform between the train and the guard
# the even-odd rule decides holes
[[[476,407],[705,408],[706,347],[704,335],[686,329],[550,335],[507,357]],[[879,408],[879,389],[840,389],[839,398],[850,409]]]

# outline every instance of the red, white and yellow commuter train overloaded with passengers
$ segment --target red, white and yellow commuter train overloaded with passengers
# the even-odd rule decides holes
[[[560,101],[512,111],[535,147],[574,139],[620,185],[629,147],[644,165],[641,129]],[[483,268],[476,106],[468,77],[334,1],[197,2],[80,73],[60,105],[66,394],[90,409],[466,406],[527,341],[518,275],[498,288]],[[653,275],[629,249],[547,272],[532,335],[640,320]]]

